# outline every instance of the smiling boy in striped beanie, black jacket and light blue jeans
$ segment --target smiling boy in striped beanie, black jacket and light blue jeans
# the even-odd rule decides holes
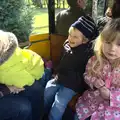
[[[96,25],[89,16],[82,16],[71,25],[57,75],[45,87],[45,112],[51,108],[49,120],[61,120],[71,98],[85,90],[83,73],[88,59],[93,55],[91,41],[97,35]]]

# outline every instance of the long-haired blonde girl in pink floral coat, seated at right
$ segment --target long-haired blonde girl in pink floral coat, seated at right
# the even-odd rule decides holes
[[[91,89],[77,101],[77,118],[120,120],[120,18],[108,22],[94,51],[84,74]]]

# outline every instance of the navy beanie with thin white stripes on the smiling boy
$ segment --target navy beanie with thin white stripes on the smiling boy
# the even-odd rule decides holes
[[[77,28],[89,40],[98,36],[96,24],[90,16],[81,16],[71,27]]]

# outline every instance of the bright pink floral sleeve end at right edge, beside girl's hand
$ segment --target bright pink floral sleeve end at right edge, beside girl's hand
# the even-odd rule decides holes
[[[110,92],[110,106],[120,108],[120,91]]]

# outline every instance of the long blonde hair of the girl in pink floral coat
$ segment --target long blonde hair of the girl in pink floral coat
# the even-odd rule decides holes
[[[120,18],[109,21],[95,40],[94,52],[97,60],[93,65],[93,72],[98,73],[103,68],[103,63],[107,60],[102,52],[103,42],[106,41],[111,43],[118,38],[120,39]],[[120,58],[114,62],[113,67],[116,67],[118,64],[120,64]]]

